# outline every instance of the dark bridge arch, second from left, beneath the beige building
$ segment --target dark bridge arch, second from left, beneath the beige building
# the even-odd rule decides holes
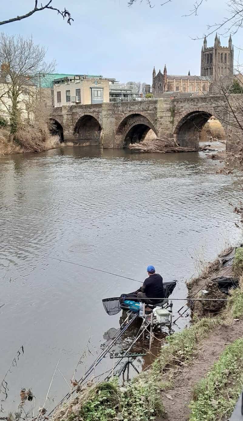
[[[73,134],[76,135],[78,140],[102,142],[102,127],[97,118],[91,114],[85,114],[78,119]]]

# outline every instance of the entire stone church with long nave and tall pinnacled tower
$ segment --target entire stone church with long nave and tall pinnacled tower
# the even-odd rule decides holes
[[[160,98],[165,92],[202,93],[212,92],[219,76],[233,75],[234,47],[230,35],[228,46],[224,47],[217,36],[213,47],[207,47],[206,37],[201,49],[201,76],[167,75],[166,66],[163,73],[159,69],[156,75],[153,70],[152,93]]]

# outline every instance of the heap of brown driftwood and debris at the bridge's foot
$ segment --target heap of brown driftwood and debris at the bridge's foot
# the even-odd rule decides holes
[[[169,152],[200,152],[210,149],[210,145],[204,145],[198,148],[186,148],[181,147],[175,141],[175,139],[145,139],[140,143],[133,143],[128,146],[129,149],[136,152],[146,152],[146,153],[169,153]]]

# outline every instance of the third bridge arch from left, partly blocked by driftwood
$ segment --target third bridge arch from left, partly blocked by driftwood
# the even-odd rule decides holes
[[[122,137],[122,144],[127,148],[130,143],[143,141],[149,131],[152,130],[157,136],[157,130],[153,123],[142,114],[129,114],[118,125],[116,135]]]

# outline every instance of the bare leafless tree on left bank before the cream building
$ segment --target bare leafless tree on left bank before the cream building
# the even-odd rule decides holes
[[[16,133],[34,108],[39,75],[52,72],[55,61],[44,61],[46,49],[34,45],[32,37],[0,34],[0,104],[3,116],[10,120],[11,133]]]

